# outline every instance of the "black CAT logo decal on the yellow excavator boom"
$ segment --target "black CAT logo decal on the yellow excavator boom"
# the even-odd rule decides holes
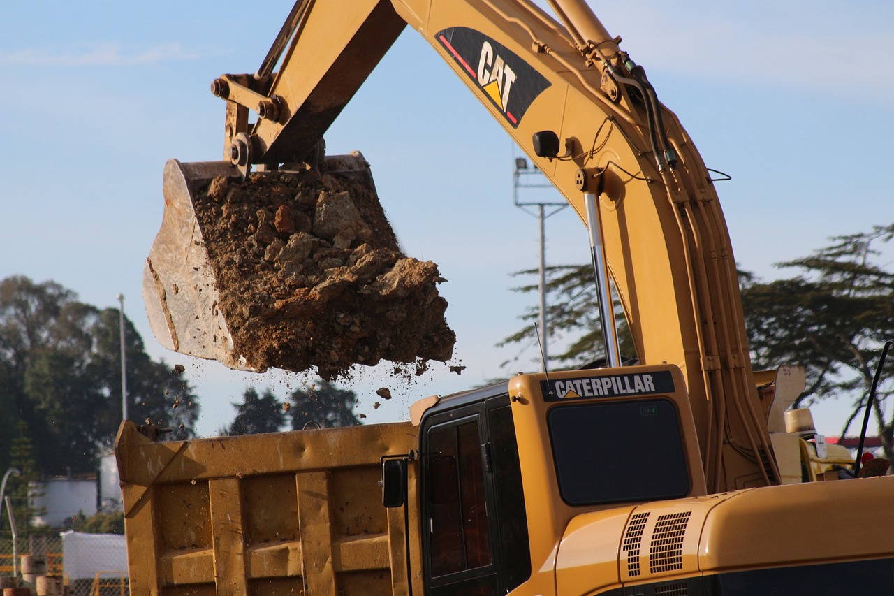
[[[518,128],[528,106],[552,84],[507,47],[477,30],[451,27],[435,38],[512,128]]]

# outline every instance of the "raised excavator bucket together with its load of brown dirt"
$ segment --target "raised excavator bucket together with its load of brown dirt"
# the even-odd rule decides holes
[[[251,173],[225,162],[164,168],[164,216],[143,297],[159,342],[238,370],[446,361],[431,261],[404,256],[357,152]]]

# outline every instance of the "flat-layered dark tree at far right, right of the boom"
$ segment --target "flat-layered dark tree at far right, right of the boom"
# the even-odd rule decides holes
[[[859,432],[881,345],[894,338],[894,272],[881,260],[879,244],[894,237],[894,225],[835,236],[812,255],[779,264],[802,275],[762,283],[742,276],[742,304],[755,365],[805,367],[807,387],[794,407],[829,396],[847,396],[852,409],[841,435]],[[894,393],[889,359],[873,414],[887,455],[894,456],[894,421],[886,414]]]

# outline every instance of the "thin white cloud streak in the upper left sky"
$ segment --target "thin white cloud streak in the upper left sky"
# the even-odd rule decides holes
[[[54,53],[52,51],[24,49],[0,50],[0,65],[4,66],[134,66],[183,62],[205,57],[201,53],[182,47],[180,43],[148,47],[141,51],[128,51],[120,44],[102,44],[80,53]]]

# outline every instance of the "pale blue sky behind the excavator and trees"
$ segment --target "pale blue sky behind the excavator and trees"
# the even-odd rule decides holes
[[[894,4],[881,1],[594,3],[645,67],[719,183],[736,257],[764,278],[835,234],[894,218]],[[202,397],[198,430],[232,418],[248,384],[283,397],[311,377],[234,373],[165,351],[148,329],[142,264],[161,220],[168,158],[222,155],[222,72],[254,72],[291,3],[0,3],[0,277],[55,280],[100,307],[125,295],[149,353],[182,363]],[[402,420],[419,397],[510,372],[494,344],[535,298],[511,271],[536,267],[536,219],[511,204],[509,137],[426,43],[406,31],[326,135],[331,154],[373,166],[405,251],[449,280],[461,376],[435,367],[406,386],[365,372],[353,388],[368,421]],[[550,263],[588,259],[570,209],[547,223]],[[894,259],[894,255],[891,255]],[[519,369],[536,370],[536,353]],[[374,410],[374,390],[395,399]],[[840,412],[814,410],[838,433]]]

